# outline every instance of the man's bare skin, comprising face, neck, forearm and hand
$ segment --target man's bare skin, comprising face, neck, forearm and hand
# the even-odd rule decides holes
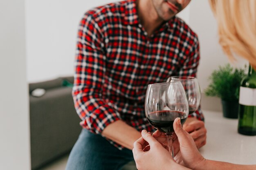
[[[139,20],[150,36],[164,20],[172,18],[175,14],[184,9],[190,0],[168,0],[168,3],[175,4],[178,11],[172,11],[166,0],[137,0]],[[184,128],[191,133],[197,147],[201,148],[206,144],[206,128],[204,122],[195,118],[188,118]],[[141,133],[135,128],[128,126],[124,121],[118,120],[108,125],[102,135],[117,142],[118,144],[132,150],[133,143],[141,137]]]

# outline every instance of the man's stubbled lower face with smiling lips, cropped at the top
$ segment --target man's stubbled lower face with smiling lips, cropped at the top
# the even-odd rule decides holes
[[[191,0],[152,0],[160,18],[167,21],[182,11]]]

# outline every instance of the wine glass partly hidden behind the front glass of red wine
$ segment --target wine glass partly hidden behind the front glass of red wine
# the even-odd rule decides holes
[[[186,92],[186,97],[189,102],[189,114],[198,110],[201,102],[201,91],[198,79],[190,76],[172,76],[167,79],[167,82],[181,82]]]

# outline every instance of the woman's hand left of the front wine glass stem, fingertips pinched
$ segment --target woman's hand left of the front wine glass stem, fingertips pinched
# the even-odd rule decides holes
[[[132,149],[138,170],[179,169],[171,154],[150,133],[142,130],[141,135]]]

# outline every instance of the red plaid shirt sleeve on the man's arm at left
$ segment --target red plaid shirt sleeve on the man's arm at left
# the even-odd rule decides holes
[[[106,73],[103,40],[99,25],[85,14],[78,30],[72,96],[81,126],[97,134],[121,119],[115,107],[101,95]]]

